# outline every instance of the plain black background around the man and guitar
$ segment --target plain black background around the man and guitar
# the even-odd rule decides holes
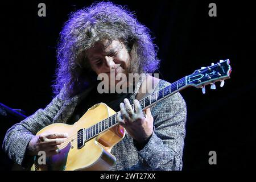
[[[46,17],[38,4],[46,3]],[[93,1],[1,2],[0,102],[33,114],[52,100],[56,43],[72,11]],[[174,82],[195,69],[230,59],[231,79],[217,90],[188,88],[183,170],[255,169],[255,8],[246,1],[114,1],[135,11],[159,46],[162,78]],[[217,17],[208,15],[209,3]],[[0,117],[1,144],[18,122]],[[209,165],[209,151],[217,165]],[[0,170],[10,160],[1,150]]]

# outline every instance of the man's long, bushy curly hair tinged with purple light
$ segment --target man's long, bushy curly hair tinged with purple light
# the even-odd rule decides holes
[[[65,98],[71,98],[96,80],[86,50],[102,40],[121,40],[125,44],[131,57],[129,73],[153,73],[158,68],[158,47],[152,42],[150,30],[122,6],[93,3],[72,13],[60,32],[56,80],[52,85],[55,94],[64,88]]]

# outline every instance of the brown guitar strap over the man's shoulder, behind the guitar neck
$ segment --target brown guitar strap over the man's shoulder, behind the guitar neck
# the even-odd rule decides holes
[[[147,76],[142,81],[141,87],[139,88],[135,99],[139,101],[142,100],[142,98],[145,98],[154,93],[154,91],[158,89],[159,81],[160,79],[147,74]]]

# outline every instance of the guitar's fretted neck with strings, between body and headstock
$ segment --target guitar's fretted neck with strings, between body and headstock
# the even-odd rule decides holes
[[[142,110],[147,109],[148,107],[151,107],[158,102],[164,100],[167,97],[170,97],[172,94],[175,94],[176,92],[179,92],[180,90],[186,88],[187,81],[186,77],[181,78],[178,81],[175,81],[171,85],[166,86],[162,90],[158,90],[158,92],[152,93],[149,96],[143,98],[139,101],[139,104],[142,107]],[[134,110],[134,104],[131,105]],[[90,140],[94,137],[96,137],[98,134],[103,133],[106,130],[109,130],[111,127],[118,125],[117,121],[117,113],[111,115],[109,118],[104,119],[103,121],[100,121],[96,123],[96,125],[93,125],[87,129],[81,129],[78,133],[83,133],[84,138],[82,140]]]

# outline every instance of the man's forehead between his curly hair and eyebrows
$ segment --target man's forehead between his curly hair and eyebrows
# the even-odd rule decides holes
[[[89,48],[86,53],[88,58],[93,57],[94,55],[106,54],[112,51],[117,51],[118,49],[123,48],[123,44],[119,40],[113,40],[109,43],[108,40],[97,42],[92,48]]]

